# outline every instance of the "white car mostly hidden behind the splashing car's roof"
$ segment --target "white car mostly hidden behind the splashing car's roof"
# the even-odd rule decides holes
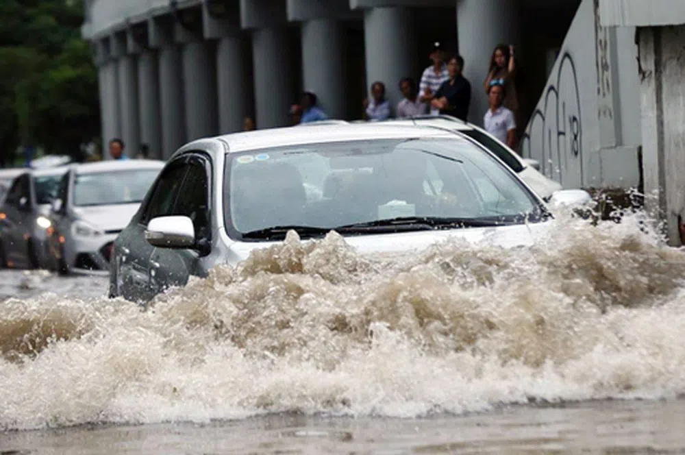
[[[332,120],[314,123],[304,123],[303,125],[323,125],[326,123],[346,123],[345,121]],[[360,123],[360,122],[355,122]],[[364,122],[365,123],[365,122]],[[545,201],[549,201],[553,193],[562,190],[561,184],[551,180],[549,177],[545,177],[540,173],[540,163],[536,160],[531,160],[530,158],[521,158],[518,153],[510,149],[506,144],[501,143],[501,141],[492,134],[483,130],[481,127],[473,125],[473,123],[467,123],[460,119],[456,119],[449,115],[440,116],[415,116],[411,119],[388,119],[386,121],[374,122],[375,125],[419,125],[428,126],[436,128],[444,128],[445,130],[451,130],[458,132],[458,134],[464,134],[472,139],[475,139],[480,144],[484,145],[487,149],[495,153],[497,157],[502,160],[508,167],[510,167],[514,172],[519,174],[519,177],[530,185],[533,190],[538,193]]]

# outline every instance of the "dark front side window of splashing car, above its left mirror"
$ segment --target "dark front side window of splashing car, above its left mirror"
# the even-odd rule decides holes
[[[174,208],[174,213],[192,220],[195,238],[210,238],[210,219],[208,201],[209,182],[205,169],[199,162],[192,162]]]

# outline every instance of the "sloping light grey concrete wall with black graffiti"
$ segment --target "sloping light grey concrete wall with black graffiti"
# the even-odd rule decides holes
[[[527,125],[523,156],[567,188],[637,186],[636,56],[630,30],[601,27],[597,0],[583,0]]]

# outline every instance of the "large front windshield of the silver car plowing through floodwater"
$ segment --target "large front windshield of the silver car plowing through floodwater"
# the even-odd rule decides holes
[[[273,240],[540,221],[544,208],[464,138],[315,143],[229,155],[226,226]]]

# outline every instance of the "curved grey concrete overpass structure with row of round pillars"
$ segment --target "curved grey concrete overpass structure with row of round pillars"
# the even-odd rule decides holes
[[[466,60],[481,123],[493,48],[512,43],[529,106],[580,0],[86,0],[83,35],[99,69],[102,136],[169,156],[188,140],[286,125],[301,90],[358,119],[376,80],[393,106],[440,41]],[[534,32],[532,32],[534,30]],[[524,70],[522,70],[524,71]]]

